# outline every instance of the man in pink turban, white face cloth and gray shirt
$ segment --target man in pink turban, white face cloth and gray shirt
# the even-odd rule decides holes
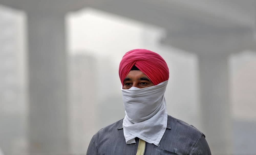
[[[134,49],[119,66],[125,117],[98,131],[87,155],[210,155],[205,135],[167,115],[164,93],[169,69],[164,59]]]

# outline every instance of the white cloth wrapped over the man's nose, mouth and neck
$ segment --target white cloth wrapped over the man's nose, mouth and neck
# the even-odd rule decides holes
[[[135,137],[159,145],[167,126],[164,98],[168,80],[147,88],[122,89],[125,117],[123,130],[126,144]]]

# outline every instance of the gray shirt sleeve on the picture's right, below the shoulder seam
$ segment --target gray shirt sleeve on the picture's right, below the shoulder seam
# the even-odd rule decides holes
[[[204,135],[202,135],[201,138],[198,139],[190,155],[211,155],[209,145],[206,142]]]

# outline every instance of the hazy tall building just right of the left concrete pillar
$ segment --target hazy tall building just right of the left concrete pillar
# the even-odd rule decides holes
[[[84,53],[84,54],[83,54]],[[70,152],[86,152],[97,124],[95,58],[85,52],[69,56]]]

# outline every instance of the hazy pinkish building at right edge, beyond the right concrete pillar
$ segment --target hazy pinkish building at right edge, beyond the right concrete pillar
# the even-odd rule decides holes
[[[230,58],[233,152],[255,154],[256,53],[244,51]]]

